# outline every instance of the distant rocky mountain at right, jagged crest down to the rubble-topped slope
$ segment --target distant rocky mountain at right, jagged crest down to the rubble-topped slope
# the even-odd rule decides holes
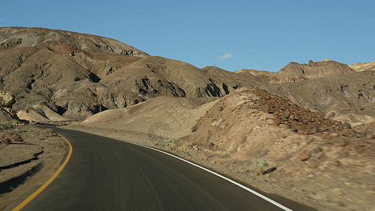
[[[298,106],[352,125],[375,121],[375,71],[357,72],[348,65],[325,59],[307,64],[289,63],[279,72],[239,70],[266,82],[259,88]],[[354,67],[354,66],[352,66]],[[359,67],[359,66],[356,66]]]

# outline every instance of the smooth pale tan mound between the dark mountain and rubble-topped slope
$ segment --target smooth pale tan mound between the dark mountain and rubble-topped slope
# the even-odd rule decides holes
[[[149,101],[106,110],[84,120],[81,125],[122,129],[178,139],[191,134],[191,127],[216,101],[205,103],[189,98],[158,96]]]

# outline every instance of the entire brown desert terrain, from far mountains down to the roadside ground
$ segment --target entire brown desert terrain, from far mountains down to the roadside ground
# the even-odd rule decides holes
[[[0,27],[0,89],[0,126],[16,127],[25,141],[3,141],[1,162],[14,151],[33,159],[41,146],[60,159],[56,137],[17,125],[72,123],[170,151],[319,210],[374,209],[374,63],[325,59],[279,72],[229,72],[90,34]],[[43,151],[33,166],[0,174],[10,179],[49,163]],[[37,177],[27,178],[25,184]]]

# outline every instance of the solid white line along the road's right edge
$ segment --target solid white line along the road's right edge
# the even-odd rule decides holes
[[[123,141],[123,140],[120,140],[120,139],[115,139],[115,140],[117,140],[117,141]],[[123,141],[123,142],[131,143],[131,142],[128,142],[128,141]],[[262,198],[262,199],[264,199],[264,200],[267,200],[267,202],[272,203],[273,205],[275,205],[275,206],[277,206],[277,207],[279,207],[279,208],[281,208],[281,209],[283,209],[283,210],[292,211],[292,210],[289,209],[288,207],[285,207],[284,205],[281,205],[280,203],[277,203],[276,201],[272,200],[271,198],[268,198],[267,196],[263,196],[262,194],[260,194],[260,193],[258,193],[258,192],[256,192],[256,191],[254,191],[253,189],[250,189],[250,188],[244,186],[243,184],[239,184],[238,182],[236,182],[236,181],[234,181],[234,180],[231,180],[231,179],[229,179],[229,178],[227,178],[227,177],[224,177],[224,176],[222,176],[221,174],[217,174],[216,172],[212,172],[211,170],[208,170],[208,169],[206,169],[205,167],[201,167],[200,165],[196,165],[195,163],[190,162],[189,160],[185,160],[184,158],[179,158],[179,157],[177,157],[176,155],[172,155],[172,154],[170,154],[170,153],[166,153],[165,151],[160,151],[160,150],[158,150],[158,149],[156,149],[156,148],[152,148],[152,147],[149,147],[149,146],[144,146],[144,145],[141,145],[141,144],[138,144],[138,143],[131,143],[131,144],[134,144],[134,145],[136,145],[136,146],[143,146],[143,147],[145,147],[145,148],[149,148],[149,149],[152,149],[152,150],[154,150],[154,151],[158,151],[158,152],[160,152],[160,153],[164,153],[164,154],[166,154],[166,155],[170,155],[170,156],[172,156],[173,158],[177,158],[177,159],[179,159],[179,160],[182,160],[182,161],[184,161],[184,162],[187,162],[187,163],[189,163],[190,165],[193,165],[193,166],[198,167],[198,168],[200,168],[200,169],[202,169],[202,170],[205,170],[206,172],[210,172],[211,174],[214,174],[214,175],[216,175],[217,177],[220,177],[220,178],[222,178],[222,179],[225,179],[225,180],[231,182],[232,184],[235,184],[236,186],[239,186],[240,188],[243,188],[243,189],[245,189],[246,191],[249,191],[250,193],[253,193],[255,196],[258,196],[258,197],[260,197],[260,198]]]

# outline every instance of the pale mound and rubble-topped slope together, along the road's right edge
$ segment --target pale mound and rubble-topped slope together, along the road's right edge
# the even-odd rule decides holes
[[[160,99],[151,101],[160,104]],[[177,153],[319,210],[373,208],[375,134],[369,129],[352,129],[256,88],[199,106],[201,115],[186,109],[179,116],[181,110],[167,106],[151,115],[142,104],[99,113],[69,128]],[[137,113],[141,105],[150,120]],[[193,127],[191,119],[198,120]],[[145,126],[155,121],[153,129],[142,131],[136,126],[142,120]]]

